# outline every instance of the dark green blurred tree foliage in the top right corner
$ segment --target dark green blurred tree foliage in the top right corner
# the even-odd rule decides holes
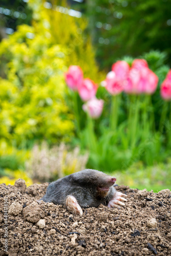
[[[169,0],[95,0],[84,5],[89,33],[101,68],[124,55],[165,51],[171,63],[171,2]]]

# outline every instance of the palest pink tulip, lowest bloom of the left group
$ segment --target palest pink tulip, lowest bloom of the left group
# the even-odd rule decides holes
[[[92,118],[98,118],[103,110],[102,99],[97,99],[96,97],[92,98],[88,102],[82,105],[82,109],[84,112],[87,112]]]

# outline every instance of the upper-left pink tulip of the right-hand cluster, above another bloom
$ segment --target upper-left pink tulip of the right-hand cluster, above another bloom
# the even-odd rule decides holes
[[[112,65],[112,71],[115,72],[118,79],[124,80],[129,75],[130,66],[124,60],[119,60]]]

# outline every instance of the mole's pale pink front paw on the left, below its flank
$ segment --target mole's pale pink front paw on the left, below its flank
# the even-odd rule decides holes
[[[79,215],[79,216],[82,216],[83,214],[80,205],[78,204],[76,198],[73,196],[68,196],[66,198],[66,207],[69,211],[72,212],[72,214]]]

